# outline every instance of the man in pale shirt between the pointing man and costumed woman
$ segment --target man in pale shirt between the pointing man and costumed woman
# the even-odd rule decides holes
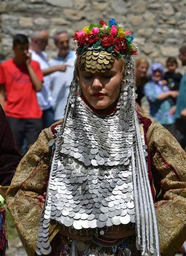
[[[58,55],[56,58],[49,60],[51,67],[56,65],[66,65],[64,72],[55,72],[52,74],[52,97],[54,120],[58,121],[64,116],[64,109],[69,95],[69,87],[73,78],[74,62],[76,59],[75,51],[69,49],[69,35],[64,30],[55,32],[54,43],[58,48]]]

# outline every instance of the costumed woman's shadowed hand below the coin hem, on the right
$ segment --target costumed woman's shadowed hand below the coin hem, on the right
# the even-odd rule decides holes
[[[128,229],[124,225],[119,225],[119,226],[113,226],[110,227],[106,230],[104,230],[104,238],[109,238],[109,239],[119,239],[119,238],[124,238],[128,236],[132,236],[135,234],[135,228],[133,229]]]

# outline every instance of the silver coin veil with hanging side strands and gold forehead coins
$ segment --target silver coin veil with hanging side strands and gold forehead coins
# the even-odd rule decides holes
[[[104,51],[100,50],[94,50],[97,55],[94,55],[92,51],[91,55],[89,55],[89,50],[91,49],[84,49],[82,55],[85,57],[100,56],[100,53],[102,52],[101,57],[104,55],[107,56]],[[114,55],[111,53],[111,55],[108,56]],[[98,59],[101,58],[97,58],[97,62]],[[106,58],[104,57],[104,59]],[[58,141],[49,178],[46,205],[40,221],[36,250],[38,254],[49,254],[51,250],[47,240],[50,219],[55,219],[64,226],[73,227],[75,229],[102,228],[104,226],[134,222],[131,175],[133,175],[133,180],[135,181],[133,184],[135,205],[137,207],[135,218],[137,224],[137,245],[141,246],[142,252],[151,251],[151,254],[149,255],[155,255],[154,248],[158,251],[157,237],[156,240],[154,237],[151,237],[150,243],[148,241],[148,245],[146,245],[144,237],[148,237],[149,230],[146,231],[147,228],[140,219],[141,211],[147,212],[148,209],[151,209],[153,212],[153,209],[152,207],[143,209],[144,205],[148,204],[145,204],[144,201],[141,202],[138,199],[138,187],[141,186],[139,184],[142,183],[142,179],[144,179],[144,183],[148,183],[148,177],[140,177],[140,180],[137,181],[135,178],[135,171],[139,168],[138,166],[143,165],[141,169],[145,168],[143,163],[145,160],[140,157],[141,155],[144,155],[144,149],[142,143],[140,144],[141,138],[138,133],[139,127],[134,108],[133,87],[135,85],[135,76],[133,58],[129,54],[126,54],[124,55],[124,59],[126,62],[126,69],[124,80],[122,81],[117,110],[109,117],[95,115],[95,113],[82,102],[80,96],[77,96],[78,81],[76,78],[76,70],[74,72],[65,111],[64,123],[58,133]],[[84,63],[87,63],[87,59]],[[82,65],[84,63],[82,63]],[[109,65],[108,62],[99,64]],[[88,66],[87,69],[91,69],[92,72],[91,66]],[[86,120],[89,122],[86,122]],[[111,125],[107,126],[109,122]],[[115,127],[113,125],[114,122]],[[78,125],[82,127],[78,129]],[[102,127],[102,125],[104,127]],[[84,129],[83,126],[86,127],[86,129]],[[97,132],[99,129],[101,133]],[[109,134],[111,129],[117,130],[117,136],[112,136],[112,134],[110,134],[110,137],[117,138],[117,141],[115,140],[112,142],[113,145],[119,149],[120,153],[123,154],[120,154],[121,158],[118,158],[118,155],[112,156],[112,143],[108,144],[104,141],[103,131],[105,134]],[[94,136],[95,139],[92,136]],[[92,140],[90,140],[90,137]],[[100,143],[98,143],[98,141],[100,141]],[[104,147],[102,147],[103,145]],[[94,176],[94,178],[91,176]],[[129,186],[127,185],[128,183],[126,183],[126,176],[128,176],[127,182],[129,183]],[[109,184],[108,187],[102,187],[103,179],[106,184]],[[77,181],[77,184],[75,184],[75,180]],[[87,181],[88,183],[86,183]],[[88,189],[89,193],[78,195],[78,186],[80,186],[84,192]],[[114,202],[117,201],[118,203],[118,199],[116,199],[115,195],[119,196],[119,194],[121,195],[121,193],[124,193],[124,191],[119,190],[119,186],[120,189],[125,189],[125,193],[127,189],[129,200],[126,200],[126,195],[124,195],[124,198],[120,198],[119,205],[117,205],[117,208],[114,206],[113,212]],[[128,188],[124,188],[124,186],[127,186]],[[90,193],[90,191],[93,191],[92,189],[95,189],[93,194]],[[104,193],[102,190],[99,191],[99,189],[105,189]],[[117,192],[117,189],[119,192]],[[140,192],[143,195],[144,191]],[[100,195],[101,193],[104,197]],[[148,196],[149,195],[145,195],[144,198]],[[106,199],[110,201],[107,201]],[[124,205],[122,206],[123,203]],[[90,210],[93,209],[93,204],[96,209],[96,212],[94,212],[95,214],[90,212]],[[110,210],[110,208],[112,209]],[[146,215],[148,216],[146,221],[152,223],[150,214],[146,213]],[[148,221],[149,218],[150,221]],[[151,224],[151,230],[153,229],[152,226],[154,227],[154,224]]]

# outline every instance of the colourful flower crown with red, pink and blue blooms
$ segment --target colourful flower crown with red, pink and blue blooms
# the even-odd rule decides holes
[[[131,32],[124,31],[123,23],[117,24],[115,19],[109,20],[109,24],[100,20],[99,24],[90,24],[74,35],[78,55],[84,50],[105,50],[115,52],[119,57],[123,54],[136,55],[138,50],[137,45],[132,43],[133,39]]]

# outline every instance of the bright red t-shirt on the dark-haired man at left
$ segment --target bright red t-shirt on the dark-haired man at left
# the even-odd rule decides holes
[[[43,74],[37,61],[31,61],[36,76],[43,81]],[[36,91],[26,64],[17,65],[14,59],[0,65],[0,84],[5,85],[5,113],[8,117],[20,119],[42,117]]]

